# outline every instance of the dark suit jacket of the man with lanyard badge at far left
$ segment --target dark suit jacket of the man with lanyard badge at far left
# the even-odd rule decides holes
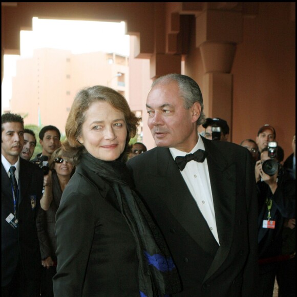
[[[2,165],[1,176],[1,259],[2,286],[12,280],[18,259],[24,265],[28,279],[40,278],[41,258],[37,238],[36,216],[40,207],[44,176],[41,169],[27,160],[20,158],[19,197],[16,217],[18,227],[13,229],[5,220],[14,213],[13,196],[9,177]],[[31,199],[35,201],[31,203]]]

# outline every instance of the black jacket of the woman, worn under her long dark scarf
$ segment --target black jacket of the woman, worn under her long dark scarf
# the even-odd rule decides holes
[[[136,243],[111,186],[80,162],[55,225],[55,297],[139,297]]]

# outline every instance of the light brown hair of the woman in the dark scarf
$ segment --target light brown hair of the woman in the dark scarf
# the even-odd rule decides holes
[[[85,151],[83,144],[78,141],[78,138],[81,137],[82,124],[86,120],[86,112],[91,104],[97,101],[105,101],[124,114],[127,127],[126,146],[130,138],[134,137],[137,133],[137,126],[141,118],[136,117],[131,111],[124,96],[104,86],[94,86],[80,90],[75,96],[67,118],[65,126],[67,139],[62,143],[62,155],[70,158],[74,165],[79,163],[81,153]],[[126,153],[123,152],[120,158],[125,159]]]

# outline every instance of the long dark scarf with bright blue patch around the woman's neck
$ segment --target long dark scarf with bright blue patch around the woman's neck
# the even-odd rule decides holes
[[[141,199],[132,189],[126,164],[102,161],[89,153],[82,156],[91,171],[112,186],[120,211],[135,238],[139,259],[139,289],[141,297],[159,297],[177,293],[181,285],[176,267],[165,240]]]

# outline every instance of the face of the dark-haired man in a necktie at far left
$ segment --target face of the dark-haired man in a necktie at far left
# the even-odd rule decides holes
[[[11,164],[14,164],[24,145],[24,126],[19,122],[7,122],[3,125],[2,131],[2,155]]]

